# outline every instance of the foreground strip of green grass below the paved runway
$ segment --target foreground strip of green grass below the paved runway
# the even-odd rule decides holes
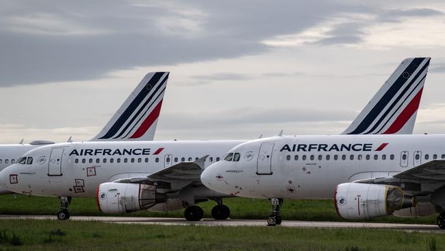
[[[443,250],[440,233],[2,220],[0,250]]]

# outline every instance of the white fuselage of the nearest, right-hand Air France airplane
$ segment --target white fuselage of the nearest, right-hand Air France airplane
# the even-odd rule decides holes
[[[231,161],[203,172],[210,189],[248,198],[327,199],[340,183],[392,176],[445,158],[445,135],[277,136],[230,153]]]

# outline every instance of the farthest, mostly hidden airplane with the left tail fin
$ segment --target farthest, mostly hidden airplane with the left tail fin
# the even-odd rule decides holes
[[[90,141],[153,141],[168,74],[147,73],[101,132]],[[14,164],[29,150],[49,144],[54,142],[32,141],[23,144],[21,141],[18,144],[0,145],[0,170]],[[0,195],[7,193],[11,191],[0,187]]]

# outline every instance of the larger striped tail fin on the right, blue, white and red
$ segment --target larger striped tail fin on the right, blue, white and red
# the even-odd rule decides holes
[[[407,58],[342,134],[412,134],[431,58]]]

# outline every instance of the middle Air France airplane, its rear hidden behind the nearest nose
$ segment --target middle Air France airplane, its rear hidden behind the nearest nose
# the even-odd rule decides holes
[[[420,64],[422,60],[425,62]],[[416,69],[411,69],[412,62],[418,63]],[[405,71],[424,69],[428,62],[429,58],[407,59],[396,72],[405,76]],[[393,74],[383,85],[384,91],[379,91],[377,99],[390,103],[392,99],[388,99],[386,93],[393,90],[392,86],[411,86],[409,77],[403,77],[405,81],[400,79]],[[423,84],[424,79],[417,86]],[[409,96],[404,100],[411,99],[413,97]],[[368,106],[365,109],[373,111]],[[362,112],[361,115],[367,117],[366,113]],[[357,121],[361,120],[355,119]],[[367,122],[374,124],[374,121]],[[386,122],[387,119],[378,121],[382,126]],[[413,125],[407,123],[414,123],[414,120],[405,121],[400,128],[412,128]],[[71,198],[94,196],[103,213],[186,208],[184,216],[193,221],[203,217],[203,210],[196,204],[211,199],[218,203],[212,208],[212,216],[226,219],[230,211],[223,205],[222,198],[231,195],[207,189],[201,183],[200,176],[203,169],[218,162],[228,150],[244,142],[122,141],[49,145],[31,150],[18,164],[1,171],[0,185],[16,193],[60,197],[59,219],[69,218]]]

